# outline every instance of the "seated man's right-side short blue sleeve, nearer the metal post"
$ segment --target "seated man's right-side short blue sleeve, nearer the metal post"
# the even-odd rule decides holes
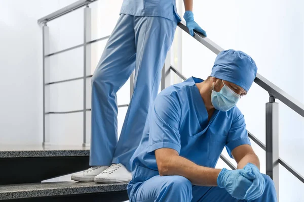
[[[232,122],[226,142],[226,149],[231,158],[233,158],[231,152],[236,147],[243,144],[251,145],[248,137],[248,132],[246,130],[244,115],[240,112],[239,109],[236,109],[235,113],[236,115],[234,117],[236,118],[234,118]]]

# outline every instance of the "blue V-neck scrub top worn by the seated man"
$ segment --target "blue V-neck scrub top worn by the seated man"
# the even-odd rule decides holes
[[[215,110],[210,121],[198,87],[202,79],[191,77],[163,90],[150,107],[141,142],[131,158],[132,181],[159,175],[154,151],[175,149],[179,156],[200,166],[214,168],[226,146],[231,151],[249,144],[244,116],[234,107],[228,112]],[[140,183],[139,183],[140,184]]]

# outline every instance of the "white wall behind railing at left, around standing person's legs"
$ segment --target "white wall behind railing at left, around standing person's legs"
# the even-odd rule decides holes
[[[0,68],[3,107],[0,116],[0,144],[41,144],[42,142],[42,27],[37,20],[77,0],[1,1]],[[92,9],[92,39],[111,33],[119,17],[122,0],[100,0]],[[83,8],[48,23],[50,53],[83,42]],[[92,73],[106,40],[92,44]],[[50,57],[50,81],[83,75],[83,48]],[[128,104],[129,82],[118,94],[118,104]],[[88,85],[90,81],[88,79]],[[87,93],[89,94],[89,93]],[[83,108],[82,80],[50,86],[50,111]],[[89,99],[88,99],[89,100]],[[90,108],[88,102],[88,108]],[[119,128],[126,113],[119,109]],[[50,116],[50,143],[81,145],[82,113]],[[90,112],[87,113],[90,141]],[[120,132],[120,130],[119,130]]]

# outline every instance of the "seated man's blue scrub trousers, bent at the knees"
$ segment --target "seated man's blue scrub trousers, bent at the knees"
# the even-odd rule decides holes
[[[277,201],[274,182],[268,175],[265,178],[263,195],[251,202]],[[138,187],[135,193],[129,193],[130,202],[245,202],[232,197],[225,189],[219,187],[204,187],[192,185],[182,176],[154,176]]]

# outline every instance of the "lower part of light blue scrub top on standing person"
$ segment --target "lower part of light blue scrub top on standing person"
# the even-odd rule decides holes
[[[158,16],[181,21],[176,11],[175,0],[124,0],[120,13],[132,16]]]

